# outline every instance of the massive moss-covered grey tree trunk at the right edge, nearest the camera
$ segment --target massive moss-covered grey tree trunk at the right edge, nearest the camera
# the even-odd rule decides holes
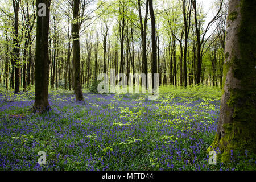
[[[230,150],[256,152],[255,8],[256,1],[229,1],[220,120],[208,148],[220,149],[221,162],[230,160]]]

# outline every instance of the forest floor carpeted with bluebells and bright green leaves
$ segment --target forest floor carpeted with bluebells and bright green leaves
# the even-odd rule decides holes
[[[255,170],[246,153],[208,164],[220,113],[218,88],[146,94],[50,92],[51,111],[32,114],[34,93],[0,93],[0,170]],[[38,152],[47,164],[38,164]]]

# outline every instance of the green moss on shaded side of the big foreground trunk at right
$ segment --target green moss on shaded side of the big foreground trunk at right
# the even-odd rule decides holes
[[[238,85],[228,86],[229,99],[226,103],[232,108],[232,119],[230,123],[222,125],[224,135],[216,134],[212,146],[219,148],[221,154],[217,155],[221,162],[230,161],[230,151],[244,153],[245,150],[251,154],[256,152],[256,1],[242,0],[240,2],[240,13],[242,20],[238,30],[239,58],[236,53],[232,59],[224,64],[224,85],[226,74],[232,68],[233,78],[239,80]],[[230,13],[228,19],[234,21],[237,13]]]

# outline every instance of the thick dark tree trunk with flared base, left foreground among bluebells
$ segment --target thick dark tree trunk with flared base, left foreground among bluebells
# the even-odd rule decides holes
[[[48,56],[48,34],[49,34],[49,6],[51,0],[36,0],[46,5],[46,16],[36,19],[36,53],[35,53],[35,103],[34,112],[43,113],[49,110],[48,85],[49,85],[49,56]],[[38,12],[38,10],[36,11]]]

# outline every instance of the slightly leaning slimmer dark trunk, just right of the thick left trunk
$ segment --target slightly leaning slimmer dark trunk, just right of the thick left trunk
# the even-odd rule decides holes
[[[73,82],[76,101],[84,101],[82,96],[81,76],[80,76],[80,40],[79,40],[79,0],[73,2],[73,20],[72,36],[73,36]]]

